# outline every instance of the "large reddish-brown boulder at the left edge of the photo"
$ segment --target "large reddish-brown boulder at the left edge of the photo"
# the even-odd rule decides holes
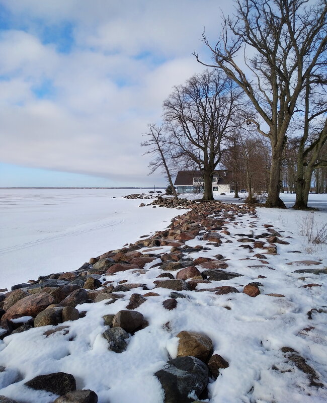
[[[11,308],[9,308],[2,317],[2,322],[6,321],[7,319],[15,319],[21,316],[36,317],[38,313],[52,303],[54,303],[54,298],[45,292],[29,295],[28,297],[20,299]]]

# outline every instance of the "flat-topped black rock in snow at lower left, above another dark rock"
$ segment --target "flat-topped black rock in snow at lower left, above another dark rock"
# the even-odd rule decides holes
[[[65,372],[39,375],[26,382],[25,385],[32,389],[46,390],[59,396],[76,390],[75,378]]]

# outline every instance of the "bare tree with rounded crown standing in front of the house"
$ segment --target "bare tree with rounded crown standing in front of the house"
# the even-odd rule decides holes
[[[213,200],[212,178],[243,108],[242,91],[217,70],[195,74],[163,103],[175,158],[203,170],[203,200]]]

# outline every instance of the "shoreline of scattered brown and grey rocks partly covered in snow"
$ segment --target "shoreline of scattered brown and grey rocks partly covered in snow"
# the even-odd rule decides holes
[[[128,198],[137,197],[130,195]],[[0,294],[0,339],[6,342],[9,336],[13,340],[17,334],[47,327],[43,338],[68,337],[72,342],[73,337],[69,339],[72,324],[87,317],[88,305],[99,304],[114,312],[101,316],[101,337],[107,342],[108,351],[120,354],[129,348],[138,332],[154,326],[145,312],[139,311],[143,304],[154,304],[160,309],[158,312],[161,309],[170,312],[172,319],[161,324],[168,333],[174,333],[173,317],[179,305],[192,309],[198,295],[215,300],[221,298],[226,312],[232,309],[228,301],[240,293],[249,298],[265,295],[271,301],[282,301],[283,305],[288,296],[278,289],[266,292],[265,279],[276,270],[272,265],[279,254],[279,246],[291,246],[292,239],[271,224],[260,226],[255,207],[172,198],[158,198],[151,204],[188,211],[175,217],[167,229],[151,236],[143,235],[134,244],[91,258],[78,270],[42,276]],[[140,207],[145,205],[142,203]],[[241,233],[244,222],[253,228],[249,233]],[[239,233],[234,233],[234,228],[239,228]],[[233,259],[242,264],[243,272],[231,270]],[[304,282],[305,273],[308,276],[326,274],[321,262],[290,261],[287,264],[291,273]],[[304,269],[293,270],[295,265]],[[236,283],[229,285],[230,280]],[[315,283],[302,285],[308,290],[319,286]],[[121,309],[122,303],[124,309]],[[115,305],[120,308],[116,310]],[[312,320],[312,316],[309,319]],[[233,363],[219,354],[215,341],[201,329],[186,328],[174,337],[178,339],[176,357],[172,358],[167,352],[165,365],[153,372],[161,384],[165,403],[209,401],[208,384],[218,382],[219,374]],[[321,376],[294,347],[281,346],[280,361],[292,371],[294,368],[301,371],[310,387],[324,387]],[[277,366],[272,368],[280,374],[283,370]],[[32,388],[59,396],[48,400],[53,403],[98,401],[96,391],[76,387],[73,374],[45,373],[25,381],[20,368],[13,371],[0,367],[1,388],[15,384],[22,390]],[[14,389],[10,390],[10,395],[15,395]],[[25,400],[0,396],[0,402],[24,403]],[[110,402],[106,400],[106,403]]]

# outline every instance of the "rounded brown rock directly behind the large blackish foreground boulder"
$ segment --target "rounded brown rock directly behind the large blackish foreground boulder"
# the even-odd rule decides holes
[[[177,357],[192,356],[203,362],[208,362],[212,352],[213,344],[210,337],[197,332],[180,332],[177,337],[178,344]]]

